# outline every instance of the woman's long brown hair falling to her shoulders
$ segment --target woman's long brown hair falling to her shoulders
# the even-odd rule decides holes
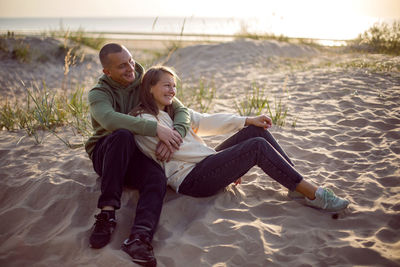
[[[154,66],[146,71],[140,83],[140,103],[129,113],[130,115],[137,116],[142,113],[149,113],[157,117],[159,109],[153,95],[150,93],[150,89],[160,81],[161,75],[164,73],[172,75],[174,80],[178,77],[171,68],[166,66]],[[172,119],[174,118],[172,105],[166,106],[164,111],[167,112]]]

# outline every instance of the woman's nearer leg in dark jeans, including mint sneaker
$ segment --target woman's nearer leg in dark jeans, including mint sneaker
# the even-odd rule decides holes
[[[211,196],[255,165],[289,190],[305,195],[309,206],[339,211],[349,205],[348,200],[337,197],[331,190],[317,188],[303,180],[282,154],[262,137],[247,139],[202,160],[186,176],[179,193],[193,197]]]

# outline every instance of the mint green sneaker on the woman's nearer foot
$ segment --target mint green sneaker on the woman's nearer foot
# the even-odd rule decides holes
[[[308,206],[323,209],[326,211],[339,211],[347,208],[350,202],[344,198],[338,197],[332,190],[318,187],[315,192],[315,199],[306,199]]]

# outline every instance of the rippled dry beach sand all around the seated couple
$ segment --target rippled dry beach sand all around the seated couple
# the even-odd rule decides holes
[[[282,97],[288,123],[271,132],[306,179],[351,204],[333,219],[289,199],[257,167],[213,197],[169,190],[153,242],[159,266],[400,266],[400,73],[341,67],[355,61],[398,66],[400,59],[249,40],[171,56],[166,64],[186,84],[214,81],[210,112],[236,112],[252,82]],[[6,63],[14,64],[0,64],[2,98],[21,92],[19,78],[42,77],[32,65]],[[72,77],[83,75],[87,88],[99,73],[91,64]],[[57,84],[59,68],[62,77],[55,63],[41,74]],[[0,183],[1,266],[134,265],[119,249],[133,221],[134,190],[124,191],[112,242],[88,247],[99,180],[83,148],[67,149],[50,134],[35,145],[23,132],[2,131]]]

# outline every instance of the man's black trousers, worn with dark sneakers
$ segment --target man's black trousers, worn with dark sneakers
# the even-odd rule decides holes
[[[124,186],[139,190],[131,233],[144,232],[153,238],[166,193],[163,169],[136,146],[134,135],[125,129],[100,139],[92,155],[93,167],[101,177],[98,208],[119,209]]]

